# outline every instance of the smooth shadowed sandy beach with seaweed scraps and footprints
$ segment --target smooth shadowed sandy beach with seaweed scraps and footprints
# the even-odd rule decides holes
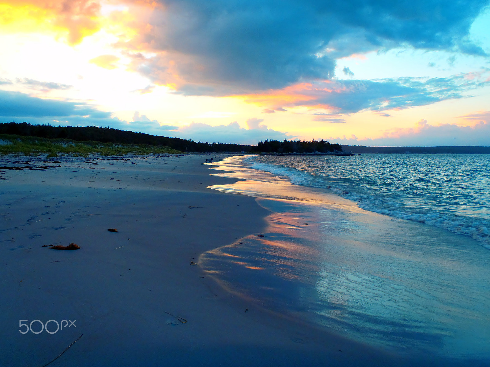
[[[0,366],[44,366],[75,340],[50,366],[410,365],[203,271],[201,253],[260,233],[269,214],[207,188],[236,181],[211,176],[209,157],[1,158],[28,168],[0,170]],[[70,243],[80,249],[48,246]],[[51,333],[34,320],[54,320]]]

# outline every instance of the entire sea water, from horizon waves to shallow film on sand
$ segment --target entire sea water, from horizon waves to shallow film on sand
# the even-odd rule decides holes
[[[232,157],[219,169],[244,181],[212,188],[271,212],[260,237],[201,255],[224,287],[377,347],[490,362],[490,156]]]

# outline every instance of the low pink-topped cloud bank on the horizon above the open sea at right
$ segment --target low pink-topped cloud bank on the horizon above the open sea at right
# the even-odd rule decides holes
[[[463,116],[471,118],[471,115]],[[329,138],[332,142],[347,145],[369,146],[448,146],[448,145],[490,145],[490,112],[473,126],[455,124],[430,125],[420,119],[411,128],[397,128],[384,132],[379,138]],[[476,117],[475,117],[476,118]]]

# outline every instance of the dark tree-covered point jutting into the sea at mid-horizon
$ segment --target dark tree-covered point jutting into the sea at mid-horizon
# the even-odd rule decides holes
[[[251,152],[254,153],[333,153],[342,152],[342,147],[335,143],[330,144],[328,141],[312,140],[312,141],[300,141],[300,140],[265,140],[259,141],[256,146],[253,146]]]

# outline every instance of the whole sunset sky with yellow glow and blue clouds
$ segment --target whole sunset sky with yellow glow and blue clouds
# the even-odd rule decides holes
[[[0,0],[0,122],[490,146],[490,0]]]

